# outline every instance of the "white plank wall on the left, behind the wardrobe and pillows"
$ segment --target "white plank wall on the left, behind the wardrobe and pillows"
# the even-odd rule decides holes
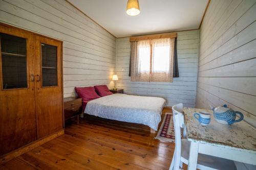
[[[0,22],[63,41],[64,97],[75,86],[113,87],[116,38],[65,0],[0,0]]]

